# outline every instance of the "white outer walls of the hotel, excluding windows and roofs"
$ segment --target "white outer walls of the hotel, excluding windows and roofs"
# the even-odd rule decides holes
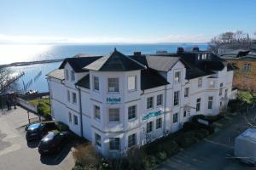
[[[72,68],[67,64],[65,68],[69,71]],[[174,81],[175,72],[180,71],[180,82]],[[87,73],[76,73],[78,79]],[[74,82],[56,81],[49,78],[49,89],[52,101],[52,110],[54,111],[55,121],[67,123],[70,129],[84,138],[89,139],[96,145],[96,133],[101,136],[101,146],[96,145],[103,156],[119,156],[120,153],[128,149],[128,136],[136,133],[136,144],[143,145],[154,139],[160,138],[166,133],[176,132],[183,126],[183,122],[188,122],[191,116],[198,114],[216,115],[220,110],[220,101],[223,105],[227,104],[231,96],[231,87],[233,79],[233,71],[218,71],[211,77],[200,77],[202,86],[198,87],[198,79],[194,78],[186,80],[186,69],[181,62],[168,72],[160,72],[162,77],[170,84],[157,88],[141,90],[141,74],[140,71],[126,72],[100,72],[90,71],[90,89],[75,87]],[[137,77],[137,90],[129,92],[127,89],[127,78],[129,76]],[[93,89],[93,77],[99,77],[99,90]],[[108,92],[108,78],[119,78],[119,92]],[[210,82],[214,82],[210,86]],[[219,95],[219,85],[224,84],[223,94]],[[184,97],[185,88],[189,88],[189,96]],[[224,91],[228,89],[228,97],[224,97]],[[77,103],[67,101],[67,90],[76,93]],[[174,92],[179,91],[179,104],[173,105]],[[157,95],[163,95],[162,105],[156,105]],[[79,99],[79,96],[81,100]],[[212,96],[212,109],[208,109],[208,97]],[[154,107],[147,109],[148,97],[154,97]],[[72,98],[72,96],[71,96]],[[116,102],[109,102],[108,99],[118,99]],[[201,99],[201,110],[195,111],[196,99]],[[79,105],[81,102],[81,106]],[[226,103],[225,103],[226,102]],[[94,106],[100,107],[100,119],[96,119],[94,115]],[[128,120],[128,107],[137,105],[137,116]],[[189,107],[189,109],[188,109]],[[109,108],[119,108],[119,122],[109,122]],[[183,115],[186,112],[186,116]],[[78,117],[78,124],[75,125],[73,120],[69,120],[69,113]],[[155,114],[158,113],[158,114]],[[177,122],[173,122],[173,115],[177,113]],[[148,116],[150,115],[150,116]],[[82,117],[82,120],[80,120]],[[145,118],[146,117],[146,118]],[[162,119],[162,125],[156,129],[156,120]],[[81,124],[81,122],[83,124]],[[153,122],[153,131],[147,133],[147,123]],[[83,129],[81,129],[83,128]],[[81,133],[82,131],[83,133]],[[120,139],[120,150],[109,150],[109,138]]]

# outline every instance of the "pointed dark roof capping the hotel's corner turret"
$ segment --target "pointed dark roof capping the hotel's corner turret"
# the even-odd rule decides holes
[[[136,71],[146,69],[146,66],[114,49],[112,54],[97,59],[90,65],[84,66],[84,69],[92,71]]]

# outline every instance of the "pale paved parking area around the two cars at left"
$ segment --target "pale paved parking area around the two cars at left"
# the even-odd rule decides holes
[[[30,113],[30,117],[36,117]],[[71,146],[57,156],[41,157],[38,141],[26,143],[24,128],[26,110],[0,111],[0,169],[4,170],[70,170],[74,165]]]

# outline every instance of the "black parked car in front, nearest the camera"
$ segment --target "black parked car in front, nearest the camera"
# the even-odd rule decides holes
[[[70,133],[68,132],[49,132],[41,139],[38,145],[38,152],[40,155],[59,153],[67,144]]]

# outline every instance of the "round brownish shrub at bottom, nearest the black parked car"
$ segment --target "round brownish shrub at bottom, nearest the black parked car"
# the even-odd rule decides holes
[[[73,151],[73,157],[78,167],[96,169],[101,162],[101,156],[91,144],[80,144],[77,150]]]

